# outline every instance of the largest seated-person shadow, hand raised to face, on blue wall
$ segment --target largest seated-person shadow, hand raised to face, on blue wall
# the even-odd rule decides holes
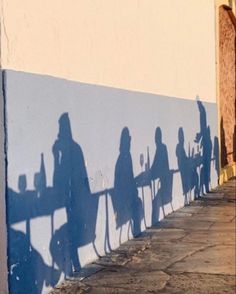
[[[81,268],[78,247],[95,240],[98,199],[90,193],[83,152],[73,140],[68,113],[59,119],[52,152],[53,188],[65,199],[67,223],[55,231],[50,250],[61,271],[71,274]]]

